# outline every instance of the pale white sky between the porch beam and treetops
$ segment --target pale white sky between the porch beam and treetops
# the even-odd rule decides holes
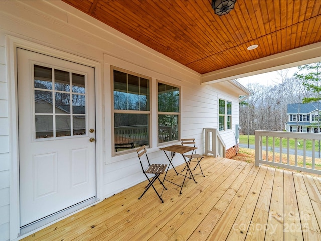
[[[297,67],[288,68],[288,69],[285,69],[285,70],[288,70],[287,77],[290,78],[297,71]],[[239,82],[243,86],[246,86],[249,83],[259,83],[261,85],[266,85],[266,86],[268,86],[268,85],[276,85],[276,84],[281,83],[281,77],[277,73],[279,71],[280,70],[272,71],[272,72],[268,72],[268,73],[264,73],[264,74],[253,75],[253,76],[249,76],[249,77],[240,78]]]

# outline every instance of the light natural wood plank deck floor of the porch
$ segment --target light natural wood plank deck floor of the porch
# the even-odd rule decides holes
[[[138,200],[143,182],[23,240],[321,240],[319,177],[224,158],[202,167],[182,195],[165,182],[164,203],[152,189]]]

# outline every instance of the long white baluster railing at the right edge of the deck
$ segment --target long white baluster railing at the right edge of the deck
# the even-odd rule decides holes
[[[277,138],[279,146],[275,145]],[[320,133],[255,131],[255,166],[267,164],[321,174],[321,159],[316,158],[318,152],[316,153],[315,148],[315,144],[318,144],[319,140],[321,140]],[[295,145],[291,147],[290,143],[293,142]],[[308,145],[312,150],[307,150]],[[275,158],[275,153],[280,154],[279,159]],[[310,154],[308,161],[307,153]],[[265,154],[264,160],[263,154]],[[294,155],[294,160],[291,160],[291,154]],[[302,156],[302,161],[298,160],[298,156]]]

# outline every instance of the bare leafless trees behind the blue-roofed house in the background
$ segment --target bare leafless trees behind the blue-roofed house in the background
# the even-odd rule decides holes
[[[288,104],[321,100],[321,62],[298,66],[292,76],[288,72],[277,71],[274,85],[245,85],[251,95],[240,99],[242,134],[254,135],[254,130],[284,131]]]

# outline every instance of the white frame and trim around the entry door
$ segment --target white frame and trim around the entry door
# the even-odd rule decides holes
[[[8,78],[8,102],[9,102],[9,150],[10,150],[10,240],[17,239],[20,234],[20,210],[19,210],[19,140],[18,140],[18,101],[17,101],[17,48],[24,48],[30,51],[63,58],[68,61],[88,65],[95,68],[95,105],[96,105],[96,193],[97,198],[102,200],[103,185],[103,162],[102,162],[102,90],[101,87],[101,63],[66,53],[51,47],[46,47],[21,38],[6,35],[6,54],[7,54],[7,78]],[[87,207],[86,207],[87,208]],[[83,208],[85,209],[85,208]],[[82,209],[80,209],[82,210]],[[78,211],[80,211],[78,210]],[[72,213],[73,214],[73,213]],[[72,215],[70,214],[70,215]],[[69,216],[69,215],[68,215]],[[57,219],[57,222],[67,216]],[[51,222],[46,226],[53,224]],[[25,237],[31,233],[24,234]]]

